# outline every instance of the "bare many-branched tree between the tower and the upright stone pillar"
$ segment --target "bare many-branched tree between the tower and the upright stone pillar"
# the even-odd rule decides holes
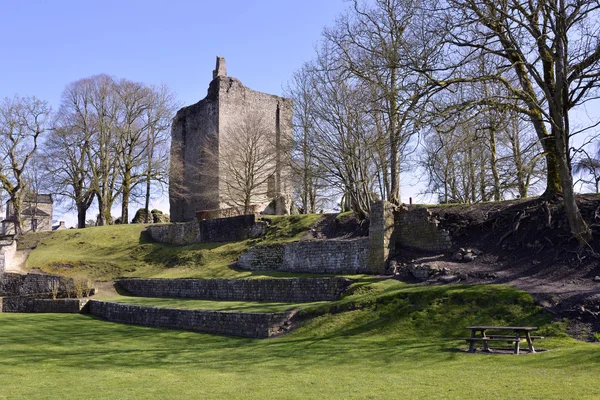
[[[321,178],[337,189],[361,216],[369,214],[376,190],[375,145],[378,142],[363,81],[339,68],[327,43],[310,70],[312,86],[311,154]]]

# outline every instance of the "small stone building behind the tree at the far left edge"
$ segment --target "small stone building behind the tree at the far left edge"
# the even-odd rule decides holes
[[[50,194],[27,195],[23,199],[21,222],[23,232],[52,230],[52,208],[54,201]],[[14,235],[15,215],[10,201],[6,203],[6,219],[2,221],[3,235]]]

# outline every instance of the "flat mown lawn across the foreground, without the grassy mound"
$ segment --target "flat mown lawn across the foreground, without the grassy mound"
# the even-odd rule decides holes
[[[598,399],[600,352],[466,354],[440,338],[219,337],[0,314],[0,399]]]

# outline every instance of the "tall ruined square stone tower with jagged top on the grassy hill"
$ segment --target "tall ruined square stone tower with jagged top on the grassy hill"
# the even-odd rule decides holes
[[[290,212],[290,99],[245,87],[227,76],[225,59],[217,57],[206,97],[177,112],[171,134],[171,221],[191,221],[210,210],[223,216]],[[244,207],[243,188],[235,187],[247,158],[255,160],[251,207]]]

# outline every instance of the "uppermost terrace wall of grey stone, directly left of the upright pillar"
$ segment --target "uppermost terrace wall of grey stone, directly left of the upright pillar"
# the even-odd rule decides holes
[[[368,273],[369,239],[311,240],[255,246],[242,254],[240,268],[314,274]]]

